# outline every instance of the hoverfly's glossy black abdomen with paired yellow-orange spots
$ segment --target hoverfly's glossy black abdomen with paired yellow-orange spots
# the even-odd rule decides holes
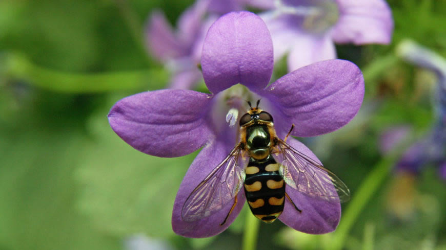
[[[271,155],[263,160],[249,159],[245,194],[251,212],[260,220],[271,223],[282,213],[285,183],[279,174],[279,164]]]

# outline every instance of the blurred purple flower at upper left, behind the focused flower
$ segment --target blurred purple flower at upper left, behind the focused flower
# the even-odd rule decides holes
[[[171,72],[170,88],[190,89],[202,79],[198,69],[202,41],[216,19],[203,20],[207,7],[207,0],[197,1],[179,17],[175,32],[162,12],[150,14],[146,31],[148,49]]]

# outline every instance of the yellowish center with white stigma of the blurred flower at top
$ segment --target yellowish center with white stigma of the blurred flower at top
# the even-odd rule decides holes
[[[311,33],[325,33],[332,28],[339,10],[332,0],[276,0],[278,15],[286,15],[292,23]]]

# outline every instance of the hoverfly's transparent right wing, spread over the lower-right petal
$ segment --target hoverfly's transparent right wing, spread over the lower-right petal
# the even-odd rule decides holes
[[[350,199],[349,188],[334,173],[282,140],[277,147],[275,157],[282,165],[280,174],[290,187],[328,201],[337,201],[338,197],[341,202]]]

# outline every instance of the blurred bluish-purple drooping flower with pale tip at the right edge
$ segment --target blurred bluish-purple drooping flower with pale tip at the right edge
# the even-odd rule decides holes
[[[446,179],[444,175],[444,164],[446,163],[446,61],[412,41],[401,42],[397,50],[404,60],[425,67],[436,75],[435,109],[437,119],[428,134],[403,154],[397,163],[396,170],[418,174],[424,166],[433,164],[439,167],[439,176]]]

